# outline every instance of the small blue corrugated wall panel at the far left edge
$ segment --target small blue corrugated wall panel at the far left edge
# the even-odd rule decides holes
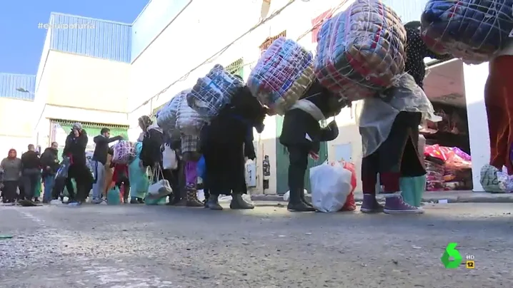
[[[28,92],[16,91],[17,88]],[[0,73],[0,98],[34,101],[35,75]]]

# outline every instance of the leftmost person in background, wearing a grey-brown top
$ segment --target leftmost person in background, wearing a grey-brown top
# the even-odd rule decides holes
[[[1,160],[0,170],[4,173],[4,181],[2,188],[2,202],[16,202],[17,190],[19,186],[19,178],[21,175],[21,159],[16,157],[16,150],[11,149],[7,154],[7,158]]]

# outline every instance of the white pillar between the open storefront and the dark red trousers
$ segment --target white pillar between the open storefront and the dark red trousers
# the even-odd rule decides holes
[[[481,168],[490,161],[488,116],[484,106],[484,84],[488,78],[488,63],[463,65],[465,97],[469,123],[470,153],[472,155],[472,185],[474,191],[483,192]]]

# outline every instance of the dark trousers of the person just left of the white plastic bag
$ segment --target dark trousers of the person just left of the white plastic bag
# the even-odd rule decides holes
[[[304,191],[304,174],[308,168],[309,149],[303,146],[289,146],[289,190],[290,202],[301,201]]]

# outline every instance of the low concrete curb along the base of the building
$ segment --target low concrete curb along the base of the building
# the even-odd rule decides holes
[[[426,195],[427,194],[427,195]],[[513,193],[510,194],[492,194],[486,192],[426,192],[422,197],[422,202],[443,202],[447,203],[513,203]],[[379,197],[379,195],[378,195]],[[306,196],[311,201],[311,196]],[[272,201],[286,202],[280,195],[251,195],[253,201]],[[363,194],[355,194],[354,200],[361,202]]]

